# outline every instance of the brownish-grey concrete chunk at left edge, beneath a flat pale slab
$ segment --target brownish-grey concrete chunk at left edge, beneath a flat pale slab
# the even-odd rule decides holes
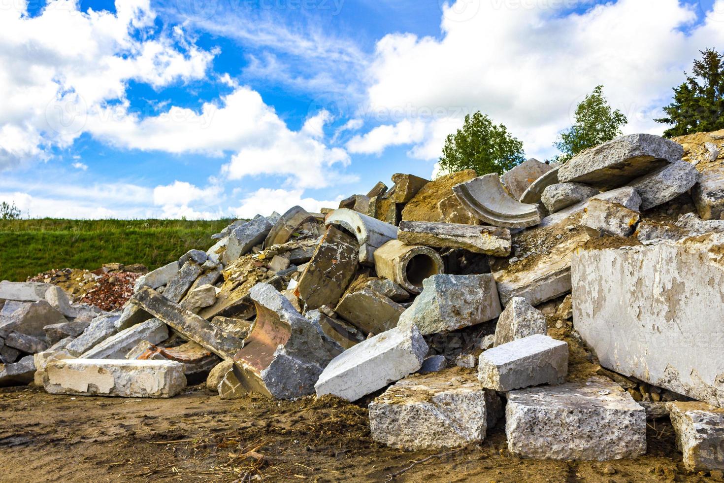
[[[7,337],[10,332],[14,331],[44,339],[43,327],[64,322],[67,322],[67,319],[63,314],[44,300],[37,302],[7,301],[0,311],[0,337]]]

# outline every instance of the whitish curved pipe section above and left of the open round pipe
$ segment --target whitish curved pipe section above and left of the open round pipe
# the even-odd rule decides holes
[[[397,227],[381,222],[358,211],[341,208],[332,211],[324,222],[340,226],[357,237],[360,244],[360,263],[374,264],[374,252],[390,240],[397,239]]]

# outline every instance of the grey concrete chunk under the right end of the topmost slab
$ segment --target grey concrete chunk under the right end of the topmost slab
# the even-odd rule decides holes
[[[686,161],[675,161],[668,166],[631,182],[641,196],[641,211],[654,208],[686,193],[699,181],[699,172]]]

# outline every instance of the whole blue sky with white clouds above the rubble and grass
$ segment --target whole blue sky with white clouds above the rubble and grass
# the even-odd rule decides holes
[[[546,159],[596,85],[652,122],[724,0],[0,0],[0,201],[251,217],[430,177],[481,110]],[[388,182],[389,184],[389,182]]]

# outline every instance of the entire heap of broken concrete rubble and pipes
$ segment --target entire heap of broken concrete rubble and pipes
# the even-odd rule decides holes
[[[647,418],[670,417],[686,467],[719,471],[723,146],[627,135],[555,167],[394,175],[339,209],[234,222],[117,312],[0,282],[0,383],[334,395],[369,405],[384,445],[505,424],[511,453],[558,460],[643,455]]]

